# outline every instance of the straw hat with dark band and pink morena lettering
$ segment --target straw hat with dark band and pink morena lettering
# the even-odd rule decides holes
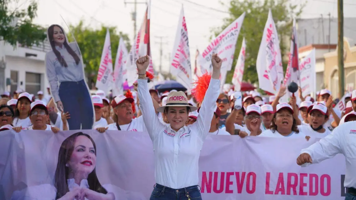
[[[167,96],[167,103],[164,106],[158,107],[156,110],[158,112],[164,112],[166,107],[181,107],[181,106],[188,106],[190,107],[190,112],[198,110],[198,107],[191,106],[188,103],[187,96],[182,91],[172,91]]]

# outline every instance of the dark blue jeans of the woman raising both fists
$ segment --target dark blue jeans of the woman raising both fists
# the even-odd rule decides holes
[[[163,185],[156,184],[152,191],[150,200],[201,200],[201,194],[198,185],[187,188],[173,189]]]

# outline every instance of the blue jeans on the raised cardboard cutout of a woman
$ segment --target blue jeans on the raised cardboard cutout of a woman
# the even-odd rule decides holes
[[[91,95],[84,80],[64,81],[59,85],[64,112],[69,112],[69,130],[90,130],[94,123],[94,109]]]

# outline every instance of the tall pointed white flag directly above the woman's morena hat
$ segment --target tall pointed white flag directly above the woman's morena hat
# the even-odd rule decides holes
[[[187,89],[192,89],[192,68],[190,63],[189,40],[185,23],[183,5],[180,10],[176,40],[174,41],[171,62],[171,74]]]

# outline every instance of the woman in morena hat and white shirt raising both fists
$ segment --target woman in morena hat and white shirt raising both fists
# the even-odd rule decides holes
[[[200,107],[197,122],[188,126],[185,126],[185,123],[188,121],[189,112],[198,108],[189,105],[182,91],[169,93],[166,106],[157,108],[157,111],[166,114],[169,124],[164,125],[159,121],[145,75],[149,63],[148,56],[140,57],[136,61],[140,108],[155,152],[157,184],[150,200],[201,199],[198,189],[198,160],[203,141],[209,135],[216,99],[220,93],[222,60],[217,54],[213,54],[211,59],[213,74],[205,94],[206,98]]]

